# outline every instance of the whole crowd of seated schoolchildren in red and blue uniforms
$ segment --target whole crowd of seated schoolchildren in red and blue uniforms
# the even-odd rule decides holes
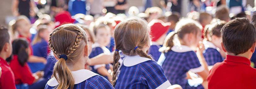
[[[0,89],[254,89],[256,15],[129,10],[1,26]]]

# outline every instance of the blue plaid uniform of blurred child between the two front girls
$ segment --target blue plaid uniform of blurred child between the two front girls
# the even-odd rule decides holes
[[[89,55],[89,58],[93,58],[93,57],[95,57],[95,56],[97,56],[97,55],[99,55],[99,54],[101,54],[101,53],[104,53],[104,52],[103,52],[103,49],[102,49],[101,47],[92,48],[92,53]],[[91,70],[92,72],[99,74],[99,73],[97,72],[97,69],[94,69],[94,66],[90,66],[90,67],[92,67],[92,70]],[[109,64],[106,64],[106,67],[105,67],[105,68],[106,68],[107,70],[110,69]],[[103,76],[103,77],[105,77],[106,79],[108,79],[107,76]]]

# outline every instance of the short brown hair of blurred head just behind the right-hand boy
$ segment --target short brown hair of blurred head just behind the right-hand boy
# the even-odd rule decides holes
[[[228,21],[230,19],[228,8],[225,5],[219,6],[215,12],[215,17],[220,20]]]

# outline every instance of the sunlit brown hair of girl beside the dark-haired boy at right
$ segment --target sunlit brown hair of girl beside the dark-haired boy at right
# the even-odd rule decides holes
[[[204,29],[204,38],[206,38],[208,41],[211,40],[211,38],[213,35],[217,36],[217,37],[221,37],[221,32],[220,30],[222,29],[222,27],[226,24],[226,21],[220,21],[219,19],[211,24],[211,25],[207,25],[207,29]]]

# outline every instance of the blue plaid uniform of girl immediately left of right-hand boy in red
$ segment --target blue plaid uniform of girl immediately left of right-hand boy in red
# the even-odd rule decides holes
[[[204,52],[204,58],[209,66],[223,61],[223,58],[218,50],[214,48],[207,48]]]

